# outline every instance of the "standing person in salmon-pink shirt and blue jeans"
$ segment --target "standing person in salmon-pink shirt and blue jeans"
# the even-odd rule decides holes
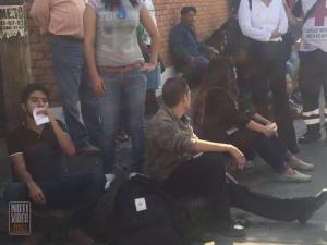
[[[94,96],[83,50],[83,12],[86,0],[35,0],[31,15],[40,34],[51,34],[52,64],[64,120],[76,150],[99,149],[99,102]],[[81,111],[78,109],[81,100]]]

